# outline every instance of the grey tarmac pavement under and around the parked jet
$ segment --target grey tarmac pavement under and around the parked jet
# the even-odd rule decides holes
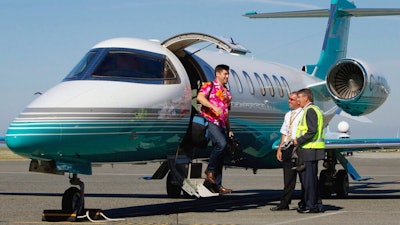
[[[1,152],[0,152],[1,154]],[[349,199],[324,199],[324,213],[296,212],[300,184],[292,210],[272,212],[283,186],[282,170],[241,168],[224,171],[229,195],[203,199],[172,199],[166,195],[166,179],[144,180],[158,163],[115,164],[93,168],[85,182],[86,208],[99,208],[121,221],[103,224],[399,224],[400,153],[354,153],[348,157],[361,176],[350,180]],[[68,175],[28,172],[29,161],[0,156],[0,224],[53,224],[42,221],[45,209],[61,209],[63,192],[70,187]],[[62,224],[83,222],[62,222]],[[58,223],[60,224],[60,223]]]

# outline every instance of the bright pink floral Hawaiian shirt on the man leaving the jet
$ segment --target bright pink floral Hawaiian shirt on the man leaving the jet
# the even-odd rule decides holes
[[[215,125],[225,128],[228,111],[231,108],[232,96],[228,88],[221,86],[217,80],[214,80],[213,84],[211,85],[211,82],[204,83],[200,88],[200,92],[203,92],[206,97],[210,94],[208,101],[222,109],[223,113],[222,115],[217,115],[212,109],[202,106],[201,115]]]

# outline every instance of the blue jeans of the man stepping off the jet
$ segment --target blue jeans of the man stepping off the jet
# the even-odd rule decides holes
[[[208,124],[208,133],[213,145],[213,150],[210,154],[207,170],[215,176],[218,187],[222,185],[222,168],[224,165],[226,141],[226,129],[219,127],[213,123]]]

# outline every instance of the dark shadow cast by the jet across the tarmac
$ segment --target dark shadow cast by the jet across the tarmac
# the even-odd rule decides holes
[[[352,183],[350,186],[349,200],[351,199],[400,199],[400,190],[382,189],[386,184],[398,182],[363,182]],[[138,205],[124,208],[103,209],[105,215],[111,218],[168,215],[187,212],[230,212],[237,210],[256,209],[275,206],[279,201],[282,190],[238,190],[233,194],[212,198],[176,199],[174,202]],[[0,192],[3,196],[47,196],[61,197],[61,193],[13,193]],[[165,199],[164,194],[122,194],[122,193],[87,193],[86,198],[152,198]],[[300,190],[295,191],[294,201],[299,200]],[[272,203],[274,202],[274,203]],[[292,205],[295,205],[293,204]],[[88,206],[90,207],[90,206]],[[342,208],[324,202],[326,211],[337,211]]]

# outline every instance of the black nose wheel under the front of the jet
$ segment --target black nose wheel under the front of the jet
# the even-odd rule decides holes
[[[84,201],[82,201],[81,198],[81,192],[78,188],[68,188],[63,194],[61,209],[67,213],[76,212],[77,214],[80,214],[82,209],[85,208]]]

